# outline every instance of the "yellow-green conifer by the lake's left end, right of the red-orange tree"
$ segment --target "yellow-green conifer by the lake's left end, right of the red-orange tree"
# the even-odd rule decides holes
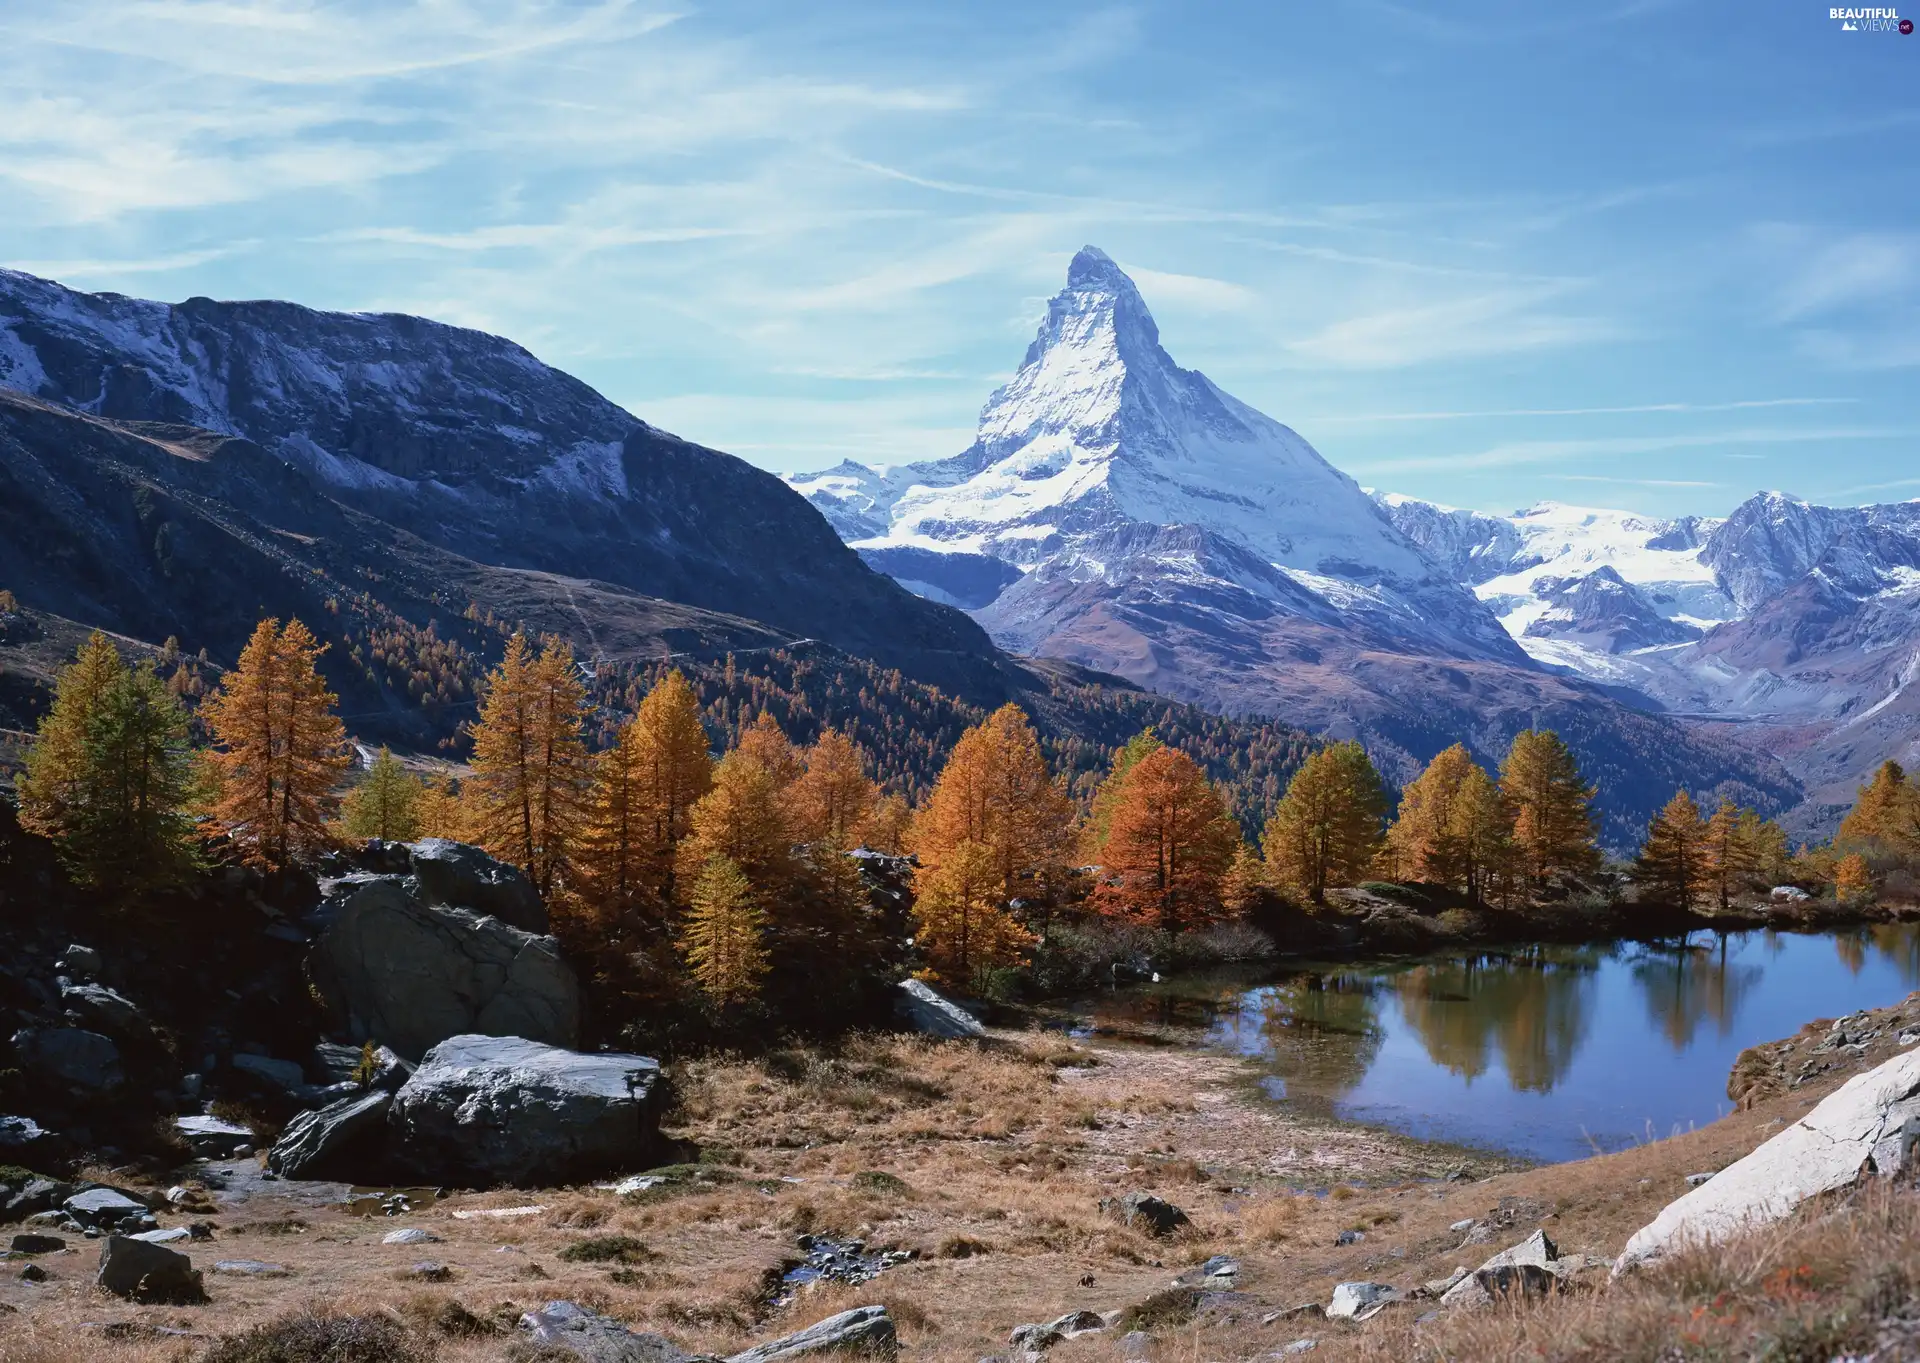
[[[1380,850],[1386,795],[1367,751],[1348,739],[1308,756],[1267,820],[1261,850],[1273,879],[1315,904],[1357,885]]]

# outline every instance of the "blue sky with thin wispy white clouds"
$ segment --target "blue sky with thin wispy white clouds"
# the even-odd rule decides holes
[[[1361,482],[1920,495],[1920,35],[1830,6],[0,0],[0,261],[954,453],[1073,250]]]

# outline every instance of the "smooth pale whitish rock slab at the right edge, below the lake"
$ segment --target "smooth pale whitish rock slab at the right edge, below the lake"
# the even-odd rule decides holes
[[[1686,1244],[1715,1244],[1782,1221],[1807,1198],[1845,1188],[1860,1175],[1912,1175],[1920,1142],[1920,1048],[1855,1075],[1818,1108],[1722,1169],[1642,1227],[1613,1273]]]

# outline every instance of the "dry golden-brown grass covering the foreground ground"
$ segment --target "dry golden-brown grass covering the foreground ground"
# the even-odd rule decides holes
[[[1880,1058],[1870,1054],[1855,1067]],[[488,1330],[511,1328],[520,1311],[555,1298],[699,1353],[728,1353],[837,1309],[883,1302],[914,1359],[973,1363],[1004,1351],[1014,1325],[1140,1303],[1212,1254],[1240,1257],[1238,1286],[1261,1311],[1256,1323],[1158,1327],[1162,1359],[1250,1359],[1308,1334],[1323,1340],[1313,1357],[1599,1359],[1605,1355],[1538,1348],[1559,1338],[1555,1332],[1576,1338],[1599,1328],[1615,1309],[1605,1303],[1642,1303],[1628,1315],[1645,1315],[1645,1330],[1657,1332],[1661,1300],[1695,1298],[1634,1284],[1626,1296],[1571,1298],[1524,1319],[1496,1311],[1450,1323],[1446,1330],[1465,1332],[1457,1338],[1432,1328],[1405,1334],[1409,1327],[1392,1313],[1367,1327],[1313,1328],[1302,1321],[1260,1327],[1258,1317],[1300,1302],[1325,1303],[1332,1284],[1348,1279],[1404,1288],[1440,1279],[1536,1227],[1565,1252],[1615,1254],[1684,1190],[1684,1175],[1724,1167],[1845,1073],[1836,1069],[1818,1085],[1672,1140],[1446,1183],[1438,1173],[1457,1152],[1288,1115],[1252,1098],[1235,1062],[1190,1050],[1087,1046],[1052,1035],[1004,1037],[993,1046],[866,1037],[831,1052],[722,1056],[676,1075],[682,1104],[670,1131],[701,1150],[703,1161],[678,1169],[664,1188],[632,1198],[591,1186],[499,1190],[449,1198],[399,1221],[357,1219],[263,1190],[215,1217],[219,1240],[190,1252],[202,1269],[252,1257],[284,1263],[292,1277],[209,1273],[209,1307],[134,1307],[90,1288],[90,1246],[52,1255],[48,1284],[0,1280],[0,1303],[17,1307],[0,1315],[0,1363],[175,1363],[204,1346],[106,1340],[81,1327],[144,1323],[211,1336],[305,1307],[386,1313],[440,1363],[468,1363],[499,1357],[507,1336]],[[1192,1225],[1156,1240],[1098,1211],[1100,1198],[1133,1188],[1177,1202]],[[543,1211],[518,1219],[453,1215],[526,1204]],[[1912,1229],[1901,1221],[1910,1213],[1874,1215],[1882,1217],[1874,1234]],[[1494,1238],[1463,1246],[1448,1227],[1469,1217],[1492,1219]],[[419,1225],[442,1242],[382,1244],[396,1225]],[[1363,1238],[1336,1246],[1350,1229]],[[793,1240],[803,1232],[906,1248],[918,1257],[856,1288],[818,1284],[776,1309],[770,1288],[799,1257]],[[645,1250],[566,1255],[568,1246],[618,1244],[622,1236]],[[432,1288],[396,1280],[420,1259],[447,1265],[451,1280]],[[1755,1265],[1743,1271],[1757,1273],[1753,1280],[1764,1288],[1772,1269]],[[1753,1292],[1764,1298],[1763,1288]],[[1649,1296],[1636,1296],[1644,1292]],[[1699,1300],[1709,1315],[1718,1309],[1711,1307],[1715,1294]],[[1757,1321],[1759,1298],[1741,1311],[1740,1319]],[[1676,1317],[1659,1319],[1667,1328]],[[1609,1348],[1632,1344],[1624,1334],[1607,1340]],[[1091,1336],[1052,1357],[1110,1359],[1114,1348],[1110,1336]],[[1519,1353],[1501,1351],[1509,1348]]]

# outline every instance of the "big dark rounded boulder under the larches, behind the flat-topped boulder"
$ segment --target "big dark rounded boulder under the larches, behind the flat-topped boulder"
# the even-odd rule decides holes
[[[467,1033],[578,1040],[580,983],[551,937],[426,904],[399,877],[357,881],[328,908],[309,971],[353,1040],[409,1060]]]

